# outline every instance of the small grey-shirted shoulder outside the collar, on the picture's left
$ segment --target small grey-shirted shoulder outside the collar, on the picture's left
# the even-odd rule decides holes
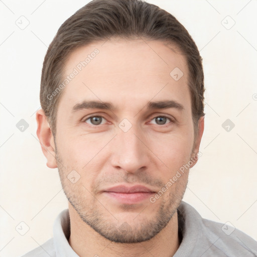
[[[21,257],[56,257],[54,239],[51,238],[37,248],[27,252]]]

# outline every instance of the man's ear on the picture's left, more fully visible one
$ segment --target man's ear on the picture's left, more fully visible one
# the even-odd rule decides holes
[[[57,168],[54,137],[43,109],[37,111],[36,118],[38,123],[37,136],[40,141],[43,154],[47,159],[46,165],[52,169]]]

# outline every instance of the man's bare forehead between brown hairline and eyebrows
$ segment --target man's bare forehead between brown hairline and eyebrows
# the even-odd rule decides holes
[[[174,53],[162,42],[148,44],[143,40],[132,41],[132,44],[120,40],[96,42],[76,49],[66,65],[66,74],[76,73],[64,88],[67,105],[73,108],[83,101],[83,96],[88,100],[105,99],[118,103],[117,98],[120,98],[130,104],[136,104],[136,101],[147,104],[155,96],[167,100],[167,95],[172,92],[170,99],[176,100],[176,94],[188,90],[184,56]],[[117,45],[120,47],[113,47]],[[135,49],[138,45],[141,47]],[[158,48],[160,46],[163,49]],[[181,71],[179,76],[183,74],[177,80],[172,77],[176,69]]]

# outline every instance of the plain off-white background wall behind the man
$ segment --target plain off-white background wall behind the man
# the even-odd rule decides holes
[[[61,24],[88,2],[0,1],[2,257],[20,256],[52,237],[56,216],[67,208],[58,170],[46,166],[35,112],[47,48]],[[257,1],[148,2],[174,15],[203,57],[202,157],[190,171],[184,201],[203,217],[229,221],[256,240]],[[17,26],[21,19],[29,23],[23,30]],[[21,119],[29,124],[24,132],[16,126]],[[222,126],[227,119],[234,123],[229,132]],[[29,227],[25,235],[20,222]]]

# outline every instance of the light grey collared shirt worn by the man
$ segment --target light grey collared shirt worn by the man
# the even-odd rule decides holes
[[[188,203],[178,208],[181,244],[174,257],[257,256],[257,242],[227,223],[203,219]],[[22,257],[79,257],[68,242],[70,218],[63,210],[54,222],[54,236]],[[156,256],[159,257],[159,256]]]

